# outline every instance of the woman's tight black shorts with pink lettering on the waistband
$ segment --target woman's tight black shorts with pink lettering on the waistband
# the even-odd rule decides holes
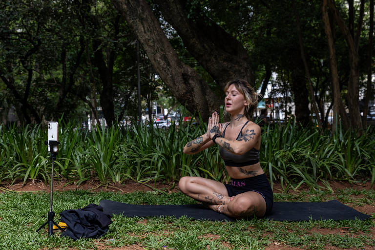
[[[231,179],[230,184],[224,184],[227,188],[229,197],[236,196],[244,192],[257,192],[263,196],[266,201],[266,213],[269,215],[273,207],[273,192],[266,174],[260,174],[245,179]]]

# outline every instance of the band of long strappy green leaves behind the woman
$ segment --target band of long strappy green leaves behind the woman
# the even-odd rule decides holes
[[[194,175],[228,181],[218,148],[195,155],[183,153],[186,143],[206,132],[205,124],[170,126],[96,127],[92,131],[70,124],[60,127],[59,152],[55,168],[59,176],[81,183],[90,178],[102,184],[121,183],[126,178],[139,182]],[[46,129],[5,129],[0,126],[0,181],[42,179],[49,181],[51,161],[44,140]],[[375,135],[370,128],[363,135],[355,131],[336,133],[301,128],[290,123],[264,127],[260,161],[271,185],[283,188],[308,184],[320,188],[320,181],[375,179]]]

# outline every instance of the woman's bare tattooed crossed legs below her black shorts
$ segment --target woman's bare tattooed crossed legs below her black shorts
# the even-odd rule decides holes
[[[181,178],[178,186],[187,196],[207,203],[212,210],[230,217],[243,218],[253,215],[262,217],[266,212],[266,201],[257,192],[244,192],[229,197],[224,184],[202,177],[189,176]]]

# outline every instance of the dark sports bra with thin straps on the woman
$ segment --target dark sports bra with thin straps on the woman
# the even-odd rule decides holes
[[[247,121],[242,126],[240,133],[238,134],[236,140],[238,140],[242,136],[242,129],[245,127],[245,125],[248,124],[248,122],[249,121]],[[228,125],[225,127],[223,131],[223,137],[225,137],[225,130],[227,129]],[[230,166],[230,167],[244,167],[244,166],[254,165],[259,162],[259,150],[255,148],[251,148],[248,152],[246,152],[243,155],[236,155],[220,147],[219,153],[220,153],[221,158],[224,160],[225,165]]]

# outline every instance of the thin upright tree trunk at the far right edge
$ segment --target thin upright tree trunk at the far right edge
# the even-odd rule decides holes
[[[368,59],[367,59],[367,90],[365,94],[365,104],[363,109],[363,128],[367,128],[367,114],[369,109],[370,98],[373,97],[373,83],[372,83],[372,57],[373,57],[373,37],[374,37],[374,0],[370,0],[370,29],[369,29],[369,44],[368,44]]]

